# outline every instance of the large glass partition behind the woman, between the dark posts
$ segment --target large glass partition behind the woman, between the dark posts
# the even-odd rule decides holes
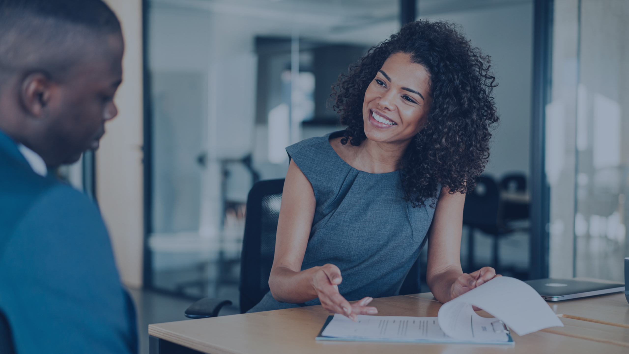
[[[248,191],[284,178],[284,147],[343,129],[326,102],[331,85],[399,29],[398,12],[398,0],[148,1],[148,287],[237,306]],[[425,0],[418,13],[459,23],[493,56],[502,122],[486,173],[526,180],[532,1]],[[515,189],[526,209],[526,188]],[[464,266],[470,237],[471,266],[491,264],[493,236],[466,230]],[[499,238],[503,273],[526,274],[528,253],[525,216]]]

